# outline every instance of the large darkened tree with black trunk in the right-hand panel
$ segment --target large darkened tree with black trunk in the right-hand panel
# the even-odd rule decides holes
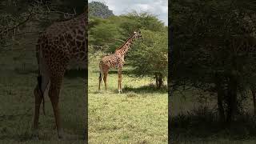
[[[250,0],[183,0],[173,1],[170,8],[174,26],[174,64],[170,77],[174,86],[185,83],[216,93],[219,118],[221,121],[226,118],[228,123],[239,113],[242,91],[248,87],[246,79],[255,70],[246,68],[256,65],[250,51],[255,38],[245,20],[254,11],[253,6]]]

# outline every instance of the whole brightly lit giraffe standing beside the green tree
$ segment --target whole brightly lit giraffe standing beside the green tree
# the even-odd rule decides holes
[[[130,38],[128,38],[126,40],[126,42],[124,42],[122,44],[122,46],[120,46],[117,50],[115,50],[114,54],[110,54],[110,55],[103,57],[101,62],[99,62],[100,74],[99,74],[99,78],[98,78],[98,80],[99,80],[98,90],[101,90],[102,76],[103,76],[103,80],[105,83],[105,89],[106,89],[107,74],[108,74],[110,68],[113,67],[113,68],[118,68],[118,92],[119,92],[119,94],[122,93],[122,86],[121,86],[122,66],[125,63],[125,54],[129,50],[130,45],[132,44],[132,42],[134,41],[135,38],[142,38],[142,34],[140,31],[134,32],[134,34],[132,36],[130,36]]]

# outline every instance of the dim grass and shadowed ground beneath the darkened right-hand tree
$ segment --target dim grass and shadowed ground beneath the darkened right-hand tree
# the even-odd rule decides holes
[[[170,98],[170,139],[172,143],[255,143],[256,124],[252,98],[242,105],[244,113],[230,126],[218,122],[215,94],[201,90],[174,92]]]

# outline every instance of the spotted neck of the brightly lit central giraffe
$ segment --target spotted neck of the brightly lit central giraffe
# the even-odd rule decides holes
[[[129,50],[131,44],[133,43],[134,39],[136,38],[136,34],[132,35],[130,38],[128,38],[126,40],[126,42],[124,42],[122,44],[122,46],[120,46],[117,50],[115,50],[115,54],[117,55],[121,55],[121,56],[124,56],[127,51]]]

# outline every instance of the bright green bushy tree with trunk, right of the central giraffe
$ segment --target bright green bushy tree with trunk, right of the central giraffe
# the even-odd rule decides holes
[[[154,76],[161,88],[168,74],[168,38],[165,32],[142,30],[142,42],[136,42],[130,51],[130,65],[137,76]]]

